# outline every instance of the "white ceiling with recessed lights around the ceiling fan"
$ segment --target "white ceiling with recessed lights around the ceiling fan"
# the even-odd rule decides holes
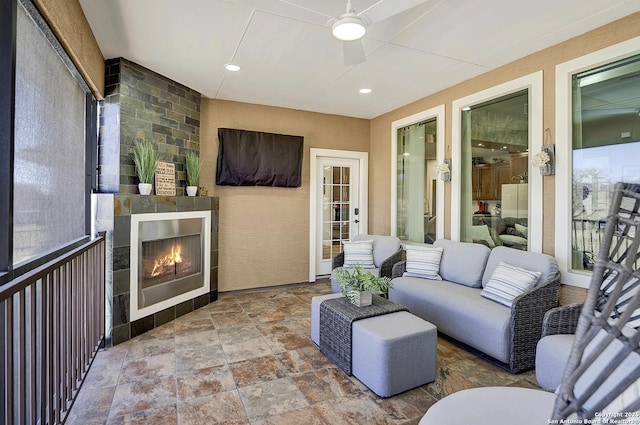
[[[375,118],[640,11],[638,0],[352,0],[375,23],[345,66],[346,0],[80,0],[105,59],[205,97]],[[417,4],[390,18],[388,8]],[[224,69],[227,63],[242,67]],[[361,88],[373,90],[360,94]]]

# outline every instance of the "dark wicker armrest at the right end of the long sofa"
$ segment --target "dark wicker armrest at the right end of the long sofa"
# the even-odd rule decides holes
[[[558,306],[560,273],[518,296],[511,306],[512,373],[535,367],[536,345],[542,337],[542,321],[547,311]]]

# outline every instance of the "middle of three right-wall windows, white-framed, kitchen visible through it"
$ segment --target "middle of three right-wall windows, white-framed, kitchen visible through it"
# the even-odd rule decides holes
[[[524,102],[525,98],[526,102]],[[511,103],[519,106],[513,106]],[[540,173],[530,172],[531,164],[528,161],[529,153],[539,151],[542,146],[542,71],[457,99],[453,102],[452,109],[451,239],[459,241],[475,239],[480,243],[486,242],[487,245],[491,244],[489,242],[491,239],[495,244],[510,244],[516,248],[542,252],[542,176]],[[519,109],[520,117],[517,119],[515,116],[508,117],[504,111],[501,111],[502,109],[512,109],[513,113]],[[474,115],[477,117],[474,118]],[[483,115],[488,118],[482,118]],[[483,121],[487,124],[474,128],[476,119],[480,124]],[[504,124],[492,126],[491,121]],[[510,121],[514,122],[509,123]],[[516,125],[515,122],[518,124]],[[528,151],[523,150],[525,133]],[[511,135],[507,136],[507,134]],[[515,134],[519,136],[515,137]],[[508,140],[513,142],[501,143]],[[515,140],[518,141],[515,142]],[[492,142],[492,144],[485,142]],[[478,146],[478,144],[484,146]],[[489,150],[479,150],[486,148]],[[491,151],[491,148],[494,151]],[[500,151],[503,153],[498,155]],[[480,168],[483,169],[480,170]],[[474,171],[477,171],[475,177]],[[481,171],[484,174],[481,174]],[[483,184],[481,181],[483,178],[490,178],[490,182]],[[526,187],[521,197],[520,191],[513,194],[520,199],[516,199],[513,205],[506,205],[506,210],[503,205],[503,185],[526,185],[520,186]],[[526,207],[523,204],[526,204]],[[526,219],[518,218],[520,214],[523,216],[526,214]],[[504,218],[510,219],[509,222],[513,224],[514,230],[506,230]],[[483,223],[479,223],[479,219]],[[517,220],[522,221],[516,223]],[[527,226],[523,225],[525,220]],[[517,227],[516,224],[518,224]],[[486,225],[486,232],[484,225]],[[479,237],[480,232],[482,232],[482,238]],[[508,232],[513,234],[510,235]],[[492,235],[492,233],[495,234]],[[503,237],[500,237],[500,234]]]

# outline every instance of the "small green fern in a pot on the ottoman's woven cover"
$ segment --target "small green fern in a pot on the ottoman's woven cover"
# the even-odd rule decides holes
[[[359,264],[353,267],[353,272],[344,267],[338,267],[333,270],[333,277],[340,284],[344,296],[351,304],[358,307],[371,305],[371,294],[386,296],[389,289],[393,288],[391,279],[364,272]]]

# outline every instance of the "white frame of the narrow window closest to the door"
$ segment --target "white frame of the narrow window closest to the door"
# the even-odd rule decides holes
[[[444,104],[401,118],[391,123],[391,214],[389,220],[389,234],[398,233],[398,130],[422,121],[436,120],[436,160],[441,164],[445,159],[445,106]],[[436,183],[436,238],[444,238],[444,181],[438,179]]]

